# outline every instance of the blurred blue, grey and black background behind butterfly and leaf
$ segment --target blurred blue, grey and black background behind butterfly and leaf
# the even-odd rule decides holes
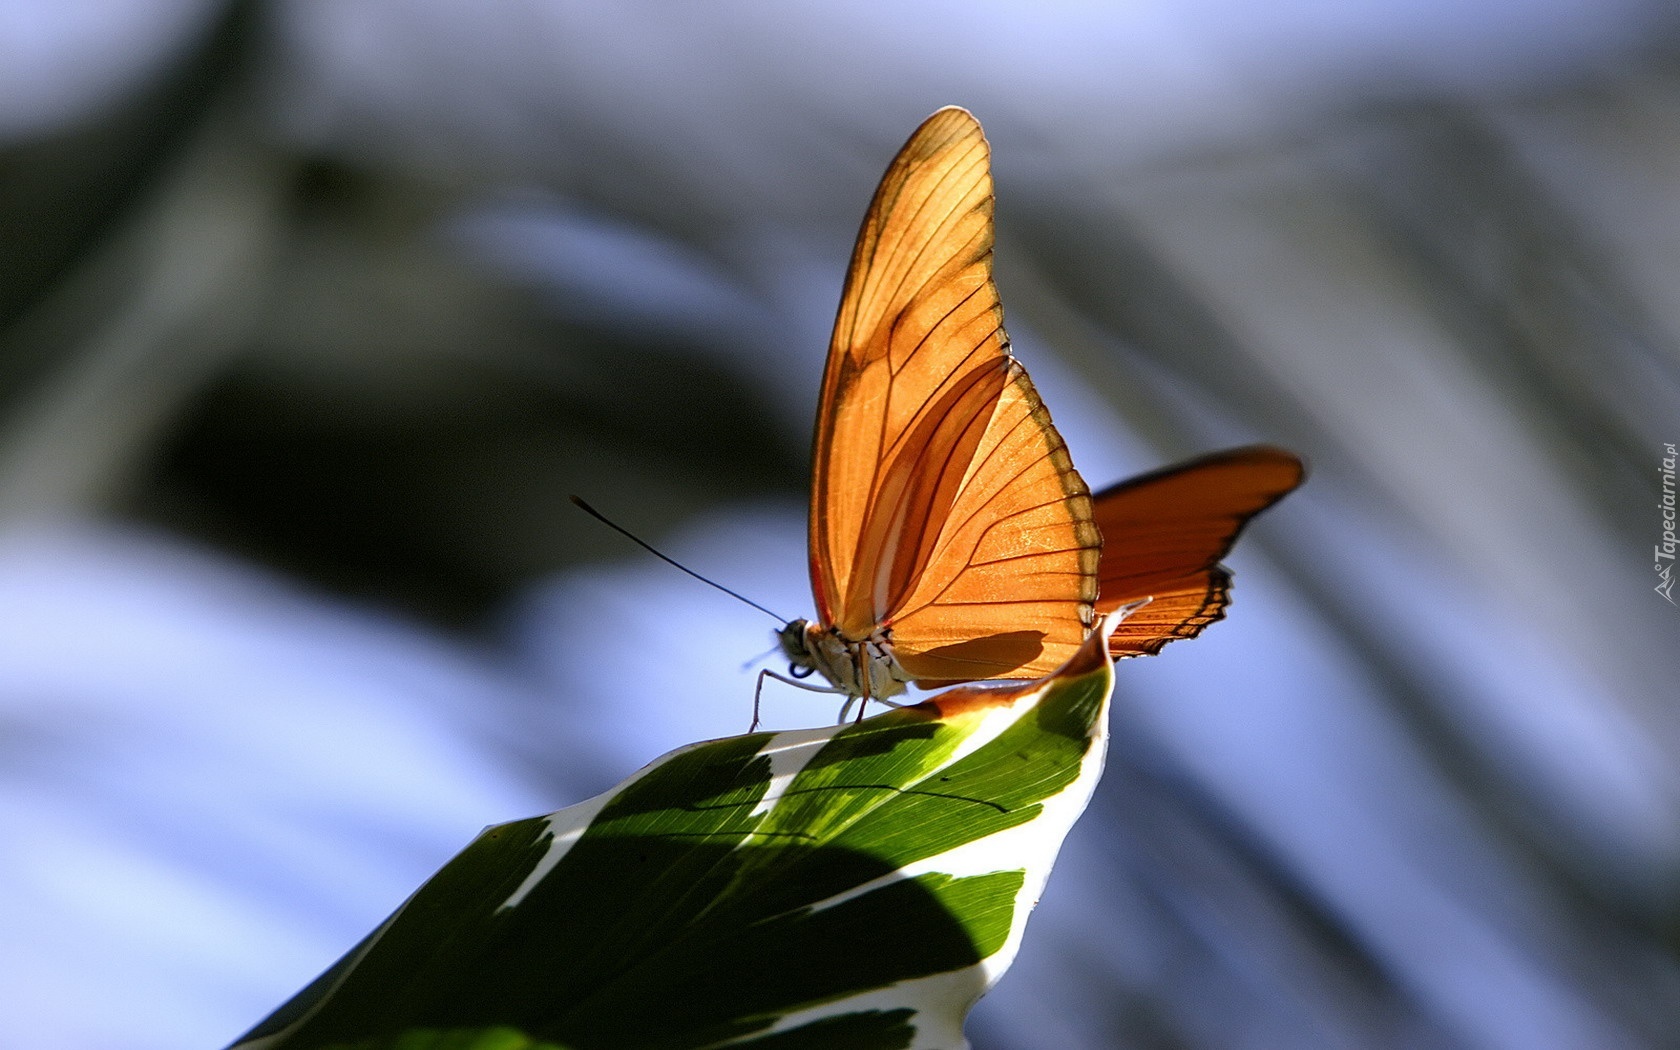
[[[1092,487],[1314,470],[1121,665],[974,1047],[1677,1045],[1660,0],[8,0],[0,1043],[222,1045],[744,731],[774,623],[566,496],[810,613],[840,279],[948,102]]]

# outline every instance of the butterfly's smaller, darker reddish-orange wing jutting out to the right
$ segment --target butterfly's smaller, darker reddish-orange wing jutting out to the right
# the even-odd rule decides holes
[[[1305,477],[1302,462],[1268,445],[1230,449],[1144,474],[1092,497],[1102,531],[1097,612],[1149,603],[1121,623],[1116,657],[1158,654],[1225,617],[1230,553],[1248,519]]]

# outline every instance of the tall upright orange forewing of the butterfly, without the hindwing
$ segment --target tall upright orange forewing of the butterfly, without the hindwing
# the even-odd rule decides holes
[[[820,620],[852,637],[887,612],[879,591],[907,517],[942,516],[904,499],[926,420],[966,388],[984,408],[974,380],[988,368],[1001,380],[990,222],[984,138],[973,118],[936,113],[887,168],[864,217],[818,400],[811,583]],[[966,361],[946,353],[959,331]]]

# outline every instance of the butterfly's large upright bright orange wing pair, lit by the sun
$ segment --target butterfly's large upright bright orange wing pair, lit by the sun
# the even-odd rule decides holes
[[[1079,648],[1095,598],[1090,502],[991,281],[979,124],[941,109],[875,192],[816,417],[818,618],[892,628],[919,680],[1037,677]]]

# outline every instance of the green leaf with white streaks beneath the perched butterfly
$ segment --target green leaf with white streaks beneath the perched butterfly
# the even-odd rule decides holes
[[[963,1047],[1102,766],[1112,665],[667,754],[484,832],[240,1050]]]

